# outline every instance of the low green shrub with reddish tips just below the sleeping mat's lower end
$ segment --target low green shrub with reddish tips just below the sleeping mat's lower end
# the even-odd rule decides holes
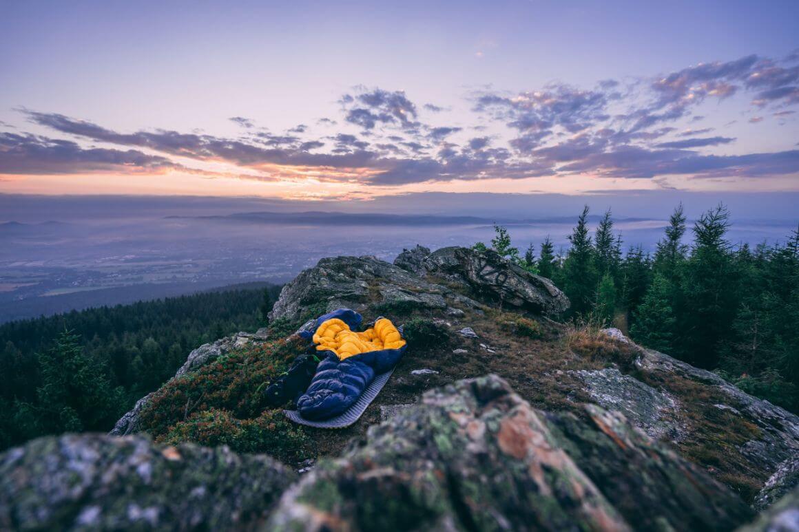
[[[255,419],[237,419],[230,411],[211,408],[176,423],[158,441],[173,445],[182,442],[209,447],[227,445],[233,451],[265,452],[284,461],[313,454],[311,440],[303,429],[276,410],[264,411]]]

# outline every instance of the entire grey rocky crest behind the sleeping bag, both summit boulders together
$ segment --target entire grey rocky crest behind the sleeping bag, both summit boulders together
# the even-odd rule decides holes
[[[430,252],[416,246],[400,253],[394,264],[373,256],[322,259],[283,288],[269,317],[297,320],[307,308],[320,304],[324,307],[320,310],[328,312],[341,307],[363,312],[368,304],[429,309],[480,306],[471,297],[438,284],[439,279],[460,284],[469,296],[489,304],[546,314],[569,307],[569,300],[550,280],[526,272],[495,252],[470,248]]]

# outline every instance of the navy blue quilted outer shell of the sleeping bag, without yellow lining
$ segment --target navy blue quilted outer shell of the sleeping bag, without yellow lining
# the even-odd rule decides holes
[[[360,324],[361,316],[357,312],[349,309],[340,309],[341,312],[336,316],[325,315],[327,317],[339,318],[348,325],[352,322]],[[335,315],[336,312],[332,312]],[[352,312],[352,314],[350,314]],[[355,316],[357,318],[355,318]],[[344,320],[341,316],[346,316]],[[320,318],[318,324],[324,321]],[[362,352],[351,355],[340,360],[339,356],[333,351],[322,351],[324,359],[316,367],[311,385],[304,395],[297,399],[297,410],[300,415],[309,420],[322,420],[340,415],[355,403],[366,387],[375,378],[375,375],[389,371],[400,361],[407,344],[396,349],[380,349],[378,351]]]

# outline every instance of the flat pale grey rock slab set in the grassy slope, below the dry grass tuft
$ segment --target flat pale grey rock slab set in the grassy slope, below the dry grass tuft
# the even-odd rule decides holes
[[[630,423],[642,429],[650,438],[680,439],[680,430],[674,421],[678,403],[671,395],[657,391],[615,368],[569,373],[586,384],[588,395],[599,406],[622,412]]]

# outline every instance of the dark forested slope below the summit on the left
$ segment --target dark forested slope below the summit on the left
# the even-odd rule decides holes
[[[0,449],[64,431],[108,431],[189,351],[264,326],[260,285],[0,325]]]

